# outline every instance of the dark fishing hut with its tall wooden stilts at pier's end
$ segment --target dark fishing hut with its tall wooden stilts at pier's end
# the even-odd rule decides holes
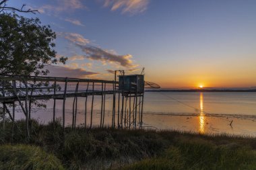
[[[143,118],[144,75],[125,75],[124,71],[115,72],[118,78],[118,125],[121,128],[141,128]]]

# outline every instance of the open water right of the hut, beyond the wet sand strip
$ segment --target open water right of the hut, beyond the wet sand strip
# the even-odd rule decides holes
[[[256,93],[148,92],[145,93],[144,110],[169,114],[198,114],[199,110],[203,110],[211,114],[256,116]]]

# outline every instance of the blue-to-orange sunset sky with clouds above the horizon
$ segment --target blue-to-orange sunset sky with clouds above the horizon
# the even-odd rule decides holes
[[[38,9],[65,66],[51,75],[113,80],[141,73],[162,88],[256,87],[255,0],[9,0]]]

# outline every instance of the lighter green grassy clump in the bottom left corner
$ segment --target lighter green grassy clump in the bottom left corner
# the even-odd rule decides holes
[[[61,161],[38,146],[0,145],[0,169],[64,169]]]

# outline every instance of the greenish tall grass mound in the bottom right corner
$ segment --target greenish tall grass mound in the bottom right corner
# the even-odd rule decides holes
[[[170,146],[163,155],[145,159],[123,170],[181,170],[181,169],[256,169],[256,151],[238,146],[220,145],[208,142],[181,142]]]

